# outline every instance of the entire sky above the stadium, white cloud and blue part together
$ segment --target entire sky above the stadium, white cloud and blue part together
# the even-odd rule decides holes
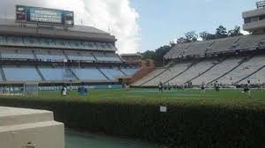
[[[257,0],[0,0],[0,18],[14,18],[15,4],[74,11],[75,24],[95,26],[117,38],[118,53],[155,50],[188,31],[214,33],[242,26],[242,11]]]

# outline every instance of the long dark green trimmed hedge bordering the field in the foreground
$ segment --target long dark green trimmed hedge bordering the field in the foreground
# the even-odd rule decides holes
[[[264,107],[196,106],[175,103],[167,113],[159,104],[78,100],[0,99],[1,106],[54,111],[55,119],[75,130],[183,148],[265,147]]]

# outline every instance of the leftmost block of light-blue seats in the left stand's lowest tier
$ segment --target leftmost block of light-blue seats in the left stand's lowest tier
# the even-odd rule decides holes
[[[42,80],[34,66],[3,66],[3,70],[7,81]]]

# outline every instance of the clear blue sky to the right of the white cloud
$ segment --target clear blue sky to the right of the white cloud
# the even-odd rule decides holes
[[[216,27],[242,26],[241,12],[255,9],[256,0],[132,0],[139,14],[138,51],[154,50],[188,31],[215,33]]]

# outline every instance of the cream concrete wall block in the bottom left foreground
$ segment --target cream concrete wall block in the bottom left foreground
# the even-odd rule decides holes
[[[0,148],[64,148],[64,124],[49,111],[0,107]]]

